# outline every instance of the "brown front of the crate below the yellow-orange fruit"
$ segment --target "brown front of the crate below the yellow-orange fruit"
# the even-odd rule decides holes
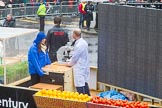
[[[35,96],[37,108],[87,108],[86,102],[70,101],[58,98]]]

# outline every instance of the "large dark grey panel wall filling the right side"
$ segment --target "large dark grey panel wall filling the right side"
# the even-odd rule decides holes
[[[162,98],[162,11],[99,5],[98,80]]]

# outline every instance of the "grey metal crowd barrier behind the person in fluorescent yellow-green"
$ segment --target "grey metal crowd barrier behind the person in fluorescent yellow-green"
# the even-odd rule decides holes
[[[12,14],[14,17],[27,17],[27,16],[37,16],[37,10],[39,4],[27,4],[28,6],[13,6],[12,8],[0,9],[0,19],[6,18],[7,14]],[[78,13],[78,3],[72,2],[68,4],[67,2],[62,2],[61,4],[54,4],[49,2],[46,6],[47,15],[73,15]]]

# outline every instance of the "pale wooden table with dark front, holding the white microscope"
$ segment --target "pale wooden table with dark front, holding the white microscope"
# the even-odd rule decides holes
[[[57,63],[53,63],[51,65],[45,66],[43,68],[43,71],[49,72],[49,76],[46,75],[46,76],[42,77],[41,82],[43,82],[43,80],[44,81],[48,80],[45,82],[50,83],[50,84],[57,84],[57,83],[61,84],[63,82],[62,85],[63,85],[65,91],[75,91],[72,67],[67,67],[64,65],[59,65]],[[54,77],[50,76],[53,74],[57,74],[59,76],[59,78],[58,77],[54,78]],[[59,79],[63,80],[63,81],[58,82]]]

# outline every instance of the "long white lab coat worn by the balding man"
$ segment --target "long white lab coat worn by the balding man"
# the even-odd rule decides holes
[[[69,65],[73,66],[75,87],[85,86],[90,75],[88,43],[80,38],[75,42],[74,51],[70,59]]]

